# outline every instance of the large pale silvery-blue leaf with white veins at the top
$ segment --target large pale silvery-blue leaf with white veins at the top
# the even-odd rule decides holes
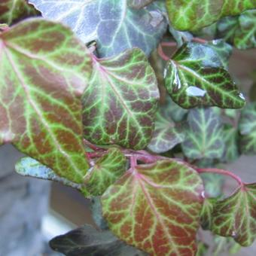
[[[154,3],[135,10],[127,6],[126,0],[29,2],[45,18],[70,26],[85,43],[96,40],[101,57],[114,56],[132,47],[149,54],[166,32],[166,18]]]

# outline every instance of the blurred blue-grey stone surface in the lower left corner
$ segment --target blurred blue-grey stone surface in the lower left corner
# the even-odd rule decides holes
[[[41,218],[50,183],[17,175],[20,157],[11,145],[0,148],[0,256],[38,256],[44,250]]]

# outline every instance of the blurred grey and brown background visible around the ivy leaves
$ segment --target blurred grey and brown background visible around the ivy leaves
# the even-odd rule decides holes
[[[234,50],[230,72],[248,94],[256,85],[256,50]],[[22,156],[12,145],[0,148],[0,256],[60,255],[47,242],[75,227],[93,224],[90,202],[62,184],[17,175],[14,165]],[[227,169],[244,181],[256,181],[255,156],[242,156]],[[233,181],[227,179],[225,187],[232,190]],[[204,236],[207,239],[207,232]],[[255,256],[256,243],[235,255]]]

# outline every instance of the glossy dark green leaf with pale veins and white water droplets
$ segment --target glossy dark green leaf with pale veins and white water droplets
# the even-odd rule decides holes
[[[245,98],[222,66],[219,53],[206,44],[184,44],[167,62],[166,89],[182,108],[198,105],[242,108]]]

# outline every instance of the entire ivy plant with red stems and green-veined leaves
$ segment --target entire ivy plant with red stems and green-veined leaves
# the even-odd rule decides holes
[[[0,145],[26,154],[20,175],[92,200],[99,226],[54,238],[53,250],[204,255],[200,227],[212,232],[213,254],[254,242],[256,181],[223,167],[256,154],[255,98],[228,69],[233,47],[256,47],[254,8],[254,0],[1,2]],[[224,194],[225,176],[237,182],[233,194]]]

